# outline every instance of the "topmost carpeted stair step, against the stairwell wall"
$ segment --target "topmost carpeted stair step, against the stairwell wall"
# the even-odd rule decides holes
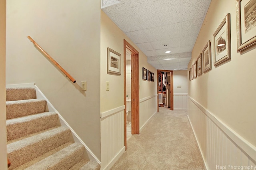
[[[36,89],[31,87],[6,88],[6,101],[36,99]]]

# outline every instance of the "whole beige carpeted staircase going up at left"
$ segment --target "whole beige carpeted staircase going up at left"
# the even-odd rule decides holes
[[[46,105],[34,88],[6,89],[8,170],[99,170],[98,162],[84,160],[84,146],[70,142],[70,129],[58,127],[58,114],[46,112]]]

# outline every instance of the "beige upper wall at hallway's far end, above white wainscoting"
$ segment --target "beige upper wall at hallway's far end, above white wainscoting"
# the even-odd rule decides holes
[[[187,70],[173,71],[173,93],[188,93]],[[181,88],[178,88],[181,86]]]

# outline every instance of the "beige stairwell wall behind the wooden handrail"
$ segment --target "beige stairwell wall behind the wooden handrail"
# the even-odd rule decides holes
[[[6,17],[6,84],[36,83],[100,160],[100,1],[12,0]],[[81,81],[87,81],[87,91]]]

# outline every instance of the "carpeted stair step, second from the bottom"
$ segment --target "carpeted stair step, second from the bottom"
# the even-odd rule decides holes
[[[84,155],[84,146],[73,143],[66,148],[36,162],[26,170],[68,170],[74,164],[82,160]]]

